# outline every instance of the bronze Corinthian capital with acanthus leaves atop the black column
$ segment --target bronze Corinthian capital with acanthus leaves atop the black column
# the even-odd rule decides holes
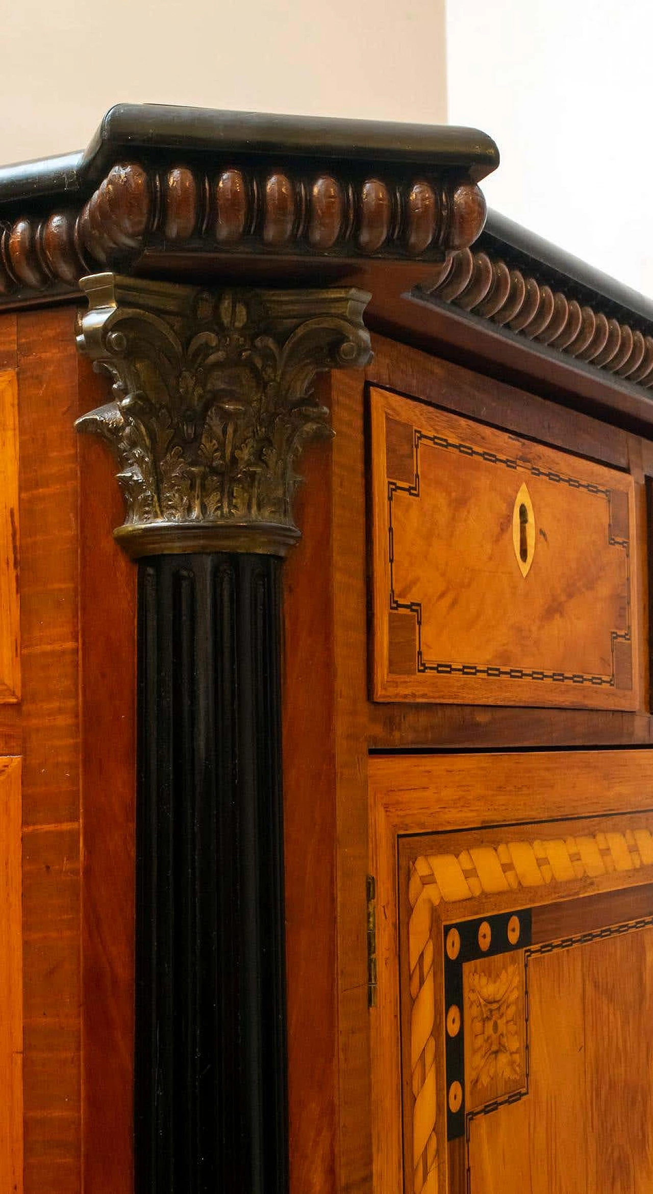
[[[359,290],[218,290],[99,273],[78,345],[113,377],[78,419],[118,464],[130,555],[285,554],[302,445],[331,435],[319,370],[371,357]]]

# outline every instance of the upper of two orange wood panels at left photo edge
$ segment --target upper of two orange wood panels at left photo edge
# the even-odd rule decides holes
[[[0,373],[0,704],[20,698],[18,387]]]

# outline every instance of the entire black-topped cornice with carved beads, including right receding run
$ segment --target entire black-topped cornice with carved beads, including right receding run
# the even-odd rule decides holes
[[[355,285],[372,327],[442,351],[450,313],[454,339],[462,318],[636,401],[653,386],[653,302],[485,222],[478,184],[497,165],[474,129],[118,105],[84,153],[0,170],[0,308],[78,296],[105,270]]]

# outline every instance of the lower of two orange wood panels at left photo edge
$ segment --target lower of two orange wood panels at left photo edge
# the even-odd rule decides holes
[[[0,758],[0,1187],[23,1194],[20,761]]]

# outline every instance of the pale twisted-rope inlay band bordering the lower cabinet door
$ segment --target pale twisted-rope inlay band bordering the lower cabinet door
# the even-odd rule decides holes
[[[438,1158],[433,910],[441,903],[452,904],[481,894],[565,885],[642,867],[653,867],[653,833],[643,826],[481,844],[458,855],[420,855],[411,863],[408,968],[414,1194],[421,1194]],[[538,952],[546,948],[537,947]],[[515,1095],[507,1095],[505,1101],[509,1100],[515,1101]]]

